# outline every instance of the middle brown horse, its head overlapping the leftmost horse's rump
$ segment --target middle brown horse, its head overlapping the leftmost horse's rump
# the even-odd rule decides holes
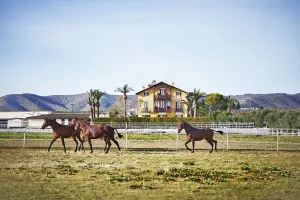
[[[115,130],[119,138],[122,138],[123,136],[118,132],[116,128],[104,124],[90,125],[76,118],[75,120],[78,120],[75,125],[75,130],[81,129],[83,142],[88,141],[90,145],[91,153],[93,153],[91,139],[98,139],[98,138],[100,139],[103,138],[105,141],[105,148],[104,148],[105,153],[108,153],[110,149],[111,146],[110,140],[112,140],[117,145],[118,150],[121,151],[118,141],[114,138]]]

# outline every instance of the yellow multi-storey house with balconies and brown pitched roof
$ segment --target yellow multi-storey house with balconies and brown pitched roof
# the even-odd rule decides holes
[[[187,92],[164,82],[152,82],[148,88],[136,93],[138,95],[139,117],[187,117]]]

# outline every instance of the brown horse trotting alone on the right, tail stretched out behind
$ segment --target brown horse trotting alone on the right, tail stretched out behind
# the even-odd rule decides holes
[[[178,126],[178,133],[184,129],[186,132],[186,142],[185,142],[185,147],[190,150],[192,153],[194,153],[195,149],[195,141],[200,141],[205,139],[210,145],[211,145],[211,151],[209,153],[213,152],[213,143],[215,144],[215,150],[217,150],[217,141],[213,139],[214,132],[221,133],[223,135],[223,131],[215,131],[210,128],[205,128],[205,129],[197,129],[192,127],[190,124],[187,122],[181,122]],[[193,144],[193,149],[188,148],[187,144],[192,142]]]

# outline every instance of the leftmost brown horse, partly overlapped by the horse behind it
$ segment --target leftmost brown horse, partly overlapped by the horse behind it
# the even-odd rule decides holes
[[[73,123],[76,123],[75,121]],[[72,137],[76,146],[75,146],[75,152],[78,150],[80,150],[80,148],[78,148],[78,142],[76,140],[77,139],[80,141],[81,143],[81,148],[82,150],[84,150],[83,147],[83,141],[80,138],[80,131],[75,130],[75,125],[62,125],[57,123],[54,119],[44,119],[44,123],[42,125],[42,129],[45,129],[46,127],[51,126],[51,128],[53,129],[53,139],[50,143],[50,146],[48,148],[48,152],[51,149],[52,144],[55,142],[55,140],[57,140],[57,138],[61,138],[61,142],[64,146],[64,152],[66,153],[66,146],[65,146],[65,141],[64,138],[68,138],[68,137]]]

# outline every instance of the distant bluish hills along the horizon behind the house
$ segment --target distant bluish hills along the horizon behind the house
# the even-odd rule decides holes
[[[107,110],[115,101],[118,95],[106,94],[101,98],[101,110]],[[128,95],[131,99],[135,95]],[[300,93],[298,94],[244,94],[232,95],[241,105],[241,108],[284,108],[299,109]],[[0,111],[89,111],[87,104],[88,94],[75,95],[51,95],[38,96],[35,94],[10,94],[0,97]],[[37,102],[37,103],[36,103]]]

